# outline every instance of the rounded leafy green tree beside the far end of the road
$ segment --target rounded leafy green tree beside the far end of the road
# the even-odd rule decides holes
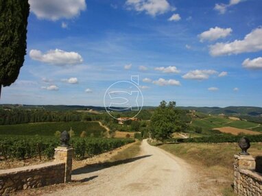
[[[154,110],[150,121],[150,132],[157,140],[171,138],[171,134],[181,130],[181,121],[176,102],[161,101],[160,106]]]

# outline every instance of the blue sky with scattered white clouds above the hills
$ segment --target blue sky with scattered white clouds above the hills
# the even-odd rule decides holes
[[[262,107],[262,1],[29,3],[27,56],[1,103],[103,106],[139,75],[144,106]]]

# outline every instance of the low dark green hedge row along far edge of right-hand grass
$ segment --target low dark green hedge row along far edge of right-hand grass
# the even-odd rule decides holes
[[[230,135],[216,135],[216,136],[204,136],[199,138],[171,138],[166,140],[167,142],[178,142],[178,143],[238,143],[242,136],[230,136]],[[257,143],[262,142],[262,134],[246,136],[250,142]]]

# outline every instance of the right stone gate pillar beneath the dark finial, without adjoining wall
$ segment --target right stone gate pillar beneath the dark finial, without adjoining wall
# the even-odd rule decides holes
[[[254,170],[256,169],[256,160],[250,155],[235,155],[234,164],[234,192],[239,193],[239,188],[241,186],[241,176],[239,173],[240,169]]]

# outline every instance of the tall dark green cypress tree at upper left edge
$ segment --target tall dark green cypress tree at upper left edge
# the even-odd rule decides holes
[[[0,0],[0,96],[1,86],[10,86],[25,60],[27,0]]]

